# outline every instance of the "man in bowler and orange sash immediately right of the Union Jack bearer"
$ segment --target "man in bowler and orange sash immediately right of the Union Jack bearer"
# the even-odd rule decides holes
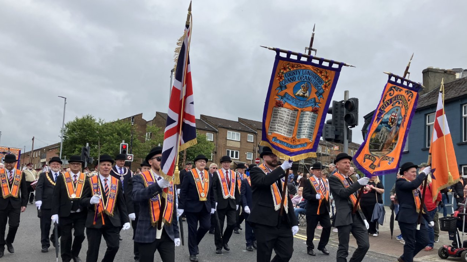
[[[190,261],[198,261],[198,244],[209,231],[211,214],[214,214],[216,202],[210,174],[205,170],[208,158],[198,155],[193,160],[195,168],[185,173],[180,188],[178,203],[179,214],[185,214],[188,224],[188,250]],[[198,228],[199,223],[199,228]]]

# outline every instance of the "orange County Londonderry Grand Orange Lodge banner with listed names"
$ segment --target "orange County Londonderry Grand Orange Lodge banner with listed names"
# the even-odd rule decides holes
[[[278,156],[314,155],[343,63],[316,63],[276,52],[262,119],[261,145]]]

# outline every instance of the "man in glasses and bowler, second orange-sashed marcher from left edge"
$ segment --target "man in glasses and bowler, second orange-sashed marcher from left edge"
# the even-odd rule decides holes
[[[68,160],[70,171],[58,176],[52,197],[52,223],[60,227],[60,255],[63,262],[81,262],[81,245],[85,239],[84,228],[88,210],[80,206],[86,174],[82,173],[81,156],[72,155]],[[37,202],[36,202],[37,203]],[[72,237],[74,230],[75,239]]]

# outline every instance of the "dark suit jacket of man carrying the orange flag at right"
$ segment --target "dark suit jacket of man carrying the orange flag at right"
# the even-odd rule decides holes
[[[425,178],[426,174],[424,172],[420,172],[417,178],[412,182],[409,182],[404,178],[400,178],[395,181],[395,194],[397,195],[397,201],[399,201],[399,212],[395,216],[395,220],[404,223],[417,223],[417,206],[415,205],[415,199],[412,190],[420,187]],[[420,199],[422,199],[421,195]],[[427,209],[425,204],[422,203],[422,206],[423,210],[425,211],[425,214],[422,214],[423,217],[429,222],[433,221],[426,214]],[[425,219],[422,219],[422,224],[425,224]]]

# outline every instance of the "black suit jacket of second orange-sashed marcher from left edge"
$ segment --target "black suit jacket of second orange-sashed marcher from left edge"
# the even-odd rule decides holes
[[[85,185],[87,177],[85,176]],[[83,188],[84,190],[84,188]],[[81,195],[83,196],[83,195]],[[63,174],[60,174],[57,177],[57,183],[53,190],[52,196],[52,215],[58,215],[59,217],[68,217],[72,211],[72,208],[80,212],[88,212],[87,208],[80,206],[80,199],[70,199],[68,197],[68,192],[66,191],[66,184],[63,180]]]

